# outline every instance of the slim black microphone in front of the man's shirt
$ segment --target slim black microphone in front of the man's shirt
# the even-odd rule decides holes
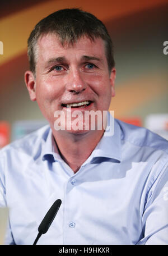
[[[41,236],[42,234],[45,234],[46,231],[48,231],[50,225],[52,224],[52,222],[53,222],[53,220],[54,220],[54,218],[55,218],[55,216],[56,216],[56,214],[57,214],[57,212],[58,212],[58,210],[59,210],[59,207],[60,207],[61,203],[62,203],[62,201],[61,201],[60,199],[57,199],[57,200],[53,203],[53,205],[52,205],[52,207],[49,209],[49,211],[46,213],[46,215],[45,215],[43,221],[41,221],[41,224],[40,224],[40,226],[38,227],[39,234],[38,234],[38,236],[36,237],[36,239],[35,239],[33,245],[35,245],[35,244],[38,242],[38,240],[39,240],[39,238],[40,238],[40,236]]]

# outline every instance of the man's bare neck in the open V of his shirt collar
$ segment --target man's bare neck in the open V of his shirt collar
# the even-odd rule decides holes
[[[99,143],[104,130],[72,134],[53,130],[60,156],[76,173]]]

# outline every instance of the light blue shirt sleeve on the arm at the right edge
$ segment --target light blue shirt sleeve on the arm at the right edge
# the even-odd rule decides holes
[[[168,244],[168,163],[155,177],[148,191],[142,227],[144,237],[139,241],[139,245]]]

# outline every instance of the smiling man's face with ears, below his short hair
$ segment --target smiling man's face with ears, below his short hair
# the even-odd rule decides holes
[[[55,111],[65,117],[74,111],[107,111],[114,96],[115,68],[109,74],[101,38],[92,42],[85,36],[63,47],[56,35],[48,34],[38,40],[36,78],[27,71],[25,80],[31,100],[38,102],[53,128]]]

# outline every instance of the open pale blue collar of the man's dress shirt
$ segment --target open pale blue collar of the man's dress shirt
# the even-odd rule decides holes
[[[108,121],[110,125],[114,127],[114,134],[109,133],[108,127],[106,128],[104,135],[97,144],[94,151],[91,153],[91,156],[88,157],[85,163],[90,162],[93,158],[104,157],[104,158],[113,158],[118,161],[122,160],[122,150],[121,150],[121,130],[118,122],[110,115],[108,112]],[[43,144],[43,149],[41,153],[41,158],[43,160],[48,157],[52,157],[54,161],[62,161],[62,158],[59,155],[57,145],[52,134],[52,129],[49,130],[48,136]]]

